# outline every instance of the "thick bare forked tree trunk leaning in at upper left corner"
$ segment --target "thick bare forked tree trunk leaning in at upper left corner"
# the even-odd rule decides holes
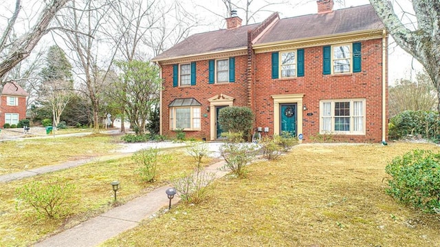
[[[21,36],[14,32],[17,24],[21,6],[21,0],[15,1],[15,8],[12,16],[8,18],[7,25],[0,36],[0,79],[18,63],[27,58],[41,37],[51,30],[50,23],[66,3],[72,0],[52,0],[45,2],[45,7],[41,10],[39,18],[35,24]]]

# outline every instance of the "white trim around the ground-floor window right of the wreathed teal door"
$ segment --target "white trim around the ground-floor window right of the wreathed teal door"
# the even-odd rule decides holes
[[[354,131],[354,102],[362,102],[362,131]],[[335,103],[336,102],[349,102],[350,103],[350,130],[349,131],[334,131],[335,129]],[[331,129],[332,131],[324,131],[324,103],[330,103],[330,116],[331,116]],[[319,133],[331,134],[331,135],[365,135],[366,133],[366,100],[364,98],[350,98],[350,99],[338,99],[338,100],[320,100],[320,116],[319,116]]]

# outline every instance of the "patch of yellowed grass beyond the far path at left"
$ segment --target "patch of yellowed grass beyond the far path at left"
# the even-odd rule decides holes
[[[0,142],[0,175],[110,153],[116,140],[100,135]]]

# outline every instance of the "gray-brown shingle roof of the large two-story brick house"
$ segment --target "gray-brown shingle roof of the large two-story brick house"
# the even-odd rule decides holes
[[[171,58],[245,48],[248,42],[248,30],[258,26],[259,24],[253,24],[230,30],[194,34],[152,60],[163,61]],[[255,42],[255,45],[296,39],[314,39],[320,36],[383,28],[382,21],[377,17],[373,7],[368,4],[335,10],[327,14],[308,14],[278,20]]]

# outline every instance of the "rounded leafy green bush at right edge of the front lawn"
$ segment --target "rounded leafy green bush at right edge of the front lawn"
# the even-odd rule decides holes
[[[440,214],[440,153],[414,150],[385,168],[391,175],[386,192],[403,204]]]

